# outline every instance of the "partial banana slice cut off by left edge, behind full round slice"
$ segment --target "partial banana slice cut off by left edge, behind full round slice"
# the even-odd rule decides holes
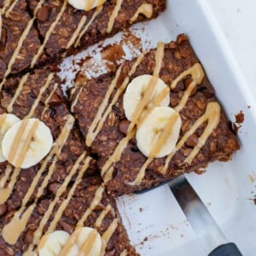
[[[12,114],[12,113],[0,114],[0,163],[6,161],[6,158],[3,156],[3,149],[2,149],[3,136],[12,125],[15,125],[18,122],[20,122],[20,119],[16,117],[15,114]]]

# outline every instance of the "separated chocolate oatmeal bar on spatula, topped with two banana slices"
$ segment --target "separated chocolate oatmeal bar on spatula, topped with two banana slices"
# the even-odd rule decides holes
[[[143,75],[150,75],[146,77],[151,79],[146,90],[141,91],[136,108],[130,106],[134,113],[128,118],[131,108],[127,108],[129,104],[125,107],[125,102],[137,101],[137,95],[130,94],[127,99],[127,88],[133,84],[137,85],[133,90],[138,90],[140,84],[134,84],[135,79],[145,79]],[[165,90],[152,100],[157,83],[166,84]],[[166,97],[169,102],[162,107]],[[184,172],[205,168],[214,160],[230,160],[239,149],[185,35],[117,65],[115,72],[77,84],[70,99],[84,142],[96,157],[112,195],[149,188]],[[154,127],[158,122],[155,109],[158,114],[163,113],[161,109],[171,114],[160,129]],[[157,137],[143,134],[147,129]],[[143,149],[148,149],[148,139],[154,143],[147,153]],[[161,156],[161,151],[168,153]]]

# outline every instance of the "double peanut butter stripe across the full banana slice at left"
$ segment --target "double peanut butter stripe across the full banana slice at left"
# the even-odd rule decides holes
[[[27,125],[28,119],[23,120],[9,151],[9,161],[14,162],[15,166],[18,168],[20,168],[23,161],[25,160],[27,150],[30,143],[32,142],[32,137],[38,128],[39,120],[36,119],[30,130],[26,133]]]

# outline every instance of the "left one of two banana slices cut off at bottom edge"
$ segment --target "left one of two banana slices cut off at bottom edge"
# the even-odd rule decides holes
[[[42,237],[38,245],[39,256],[57,256],[67,244],[70,235],[66,231],[57,230]],[[79,254],[79,247],[74,244],[69,248],[67,256]]]

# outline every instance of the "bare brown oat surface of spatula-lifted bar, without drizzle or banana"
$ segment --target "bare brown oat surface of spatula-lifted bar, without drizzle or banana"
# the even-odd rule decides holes
[[[131,79],[143,74],[152,74],[155,67],[155,53],[156,50],[150,50],[143,56],[143,61],[137,66],[135,73],[131,75]],[[115,93],[119,90],[120,85],[123,83],[127,74],[131,71],[131,67],[135,63],[133,61],[125,61],[122,65],[118,82],[114,87],[113,93],[107,101],[112,101]],[[177,42],[172,42],[165,45],[165,54],[161,61],[160,79],[164,80],[166,84],[172,84],[177,76],[193,67],[195,63],[200,62],[196,57],[193,49],[189,44],[186,36],[181,35],[177,38]],[[118,65],[116,66],[118,68]],[[88,131],[98,112],[106,93],[116,73],[107,73],[98,79],[91,79],[85,81],[84,84],[78,84],[77,88],[73,90],[71,102],[73,103],[72,111],[79,120],[79,127],[82,131],[84,138],[88,136]],[[177,83],[177,86],[171,90],[171,107],[177,107],[178,102],[184,95],[184,91],[191,83],[191,76],[187,76]],[[125,118],[123,109],[123,93],[118,98],[118,101],[110,108],[110,113],[106,119],[103,119],[102,128],[96,134],[93,140],[90,151],[97,160],[99,168],[106,166],[109,157],[113,155],[114,150],[117,148],[119,142],[126,137],[127,127],[130,124]],[[218,102],[212,85],[210,84],[207,76],[204,76],[201,84],[195,87],[192,94],[189,96],[188,102],[180,112],[182,119],[182,128],[179,135],[179,140],[183,137],[185,132],[189,131],[195,121],[199,119],[207,109],[209,102]],[[86,111],[84,111],[86,109]],[[105,108],[106,109],[106,108]],[[104,112],[103,112],[104,113]],[[100,119],[102,119],[100,115]],[[163,173],[166,163],[166,157],[158,158],[151,161],[148,165],[143,181],[137,185],[131,185],[141,170],[147,158],[137,148],[137,141],[133,137],[127,146],[121,151],[120,159],[113,161],[110,168],[102,172],[105,178],[105,183],[108,190],[113,195],[121,195],[131,193],[132,191],[149,188],[152,185],[166,181],[173,177],[183,174],[183,172],[196,171],[204,168],[209,162],[214,160],[227,161],[230,160],[231,155],[239,149],[236,136],[230,131],[228,121],[221,110],[218,127],[212,131],[207,138],[206,143],[200,149],[199,153],[195,155],[191,164],[184,163],[184,160],[189,156],[192,149],[198,143],[198,138],[201,137],[203,131],[206,129],[207,122],[196,129],[195,133],[189,137],[186,143],[180,150],[177,150],[173,155],[169,164],[167,165],[166,172]],[[102,170],[103,171],[103,170]],[[106,173],[110,173],[112,178],[106,182]]]

